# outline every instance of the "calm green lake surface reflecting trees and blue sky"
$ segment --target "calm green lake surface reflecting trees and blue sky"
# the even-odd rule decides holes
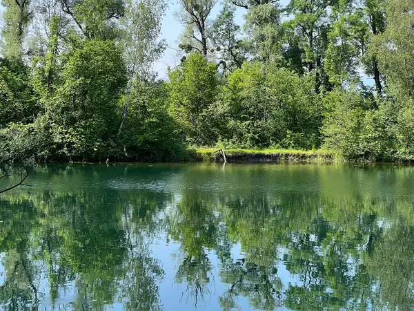
[[[414,309],[414,167],[72,164],[26,183],[0,195],[0,310]]]

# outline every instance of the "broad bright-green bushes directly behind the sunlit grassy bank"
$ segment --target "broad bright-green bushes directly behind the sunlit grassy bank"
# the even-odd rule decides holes
[[[233,144],[302,149],[317,144],[321,109],[311,79],[271,63],[246,63],[230,75],[224,94]]]

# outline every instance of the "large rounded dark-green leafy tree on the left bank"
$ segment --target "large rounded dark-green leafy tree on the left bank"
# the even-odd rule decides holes
[[[57,150],[79,160],[109,156],[117,102],[126,86],[121,51],[111,41],[86,41],[68,55],[61,77],[46,104]]]

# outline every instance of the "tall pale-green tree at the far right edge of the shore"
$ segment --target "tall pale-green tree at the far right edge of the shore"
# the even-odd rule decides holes
[[[396,138],[400,158],[414,158],[414,2],[390,0],[386,30],[373,38],[371,52],[386,76],[388,95],[398,111]]]

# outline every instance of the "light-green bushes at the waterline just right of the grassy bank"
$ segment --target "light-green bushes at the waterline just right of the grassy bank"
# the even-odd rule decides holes
[[[360,93],[335,89],[324,97],[322,126],[324,147],[351,160],[396,159],[395,123],[397,115],[390,102],[377,110]]]

